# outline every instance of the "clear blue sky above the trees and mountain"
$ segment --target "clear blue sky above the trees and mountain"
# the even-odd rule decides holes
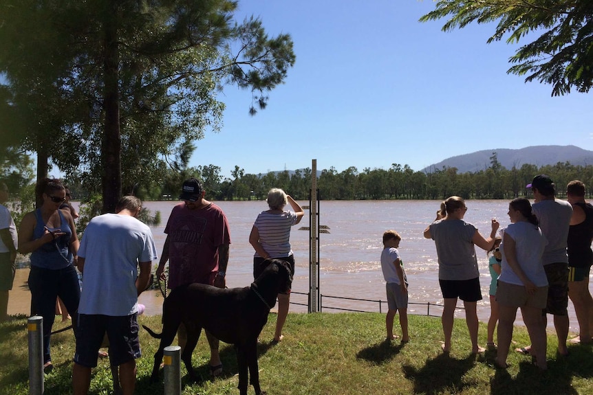
[[[506,74],[517,45],[487,44],[494,25],[442,32],[419,23],[424,0],[241,0],[270,36],[290,33],[297,61],[268,108],[248,115],[250,91],[226,87],[219,133],[197,141],[191,166],[230,177],[334,166],[413,170],[496,148],[575,145],[593,150],[593,93]],[[528,43],[524,41],[522,43]]]

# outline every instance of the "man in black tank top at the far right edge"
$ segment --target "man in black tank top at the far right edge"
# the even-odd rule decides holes
[[[571,343],[590,343],[593,335],[593,298],[589,291],[589,273],[593,264],[593,205],[585,202],[585,184],[570,181],[566,187],[572,218],[568,231],[568,296],[579,321],[579,336]]]

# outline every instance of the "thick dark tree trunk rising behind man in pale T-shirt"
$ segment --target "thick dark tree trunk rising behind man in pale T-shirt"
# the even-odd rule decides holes
[[[118,89],[118,5],[111,0],[105,12],[105,131],[101,144],[101,161],[103,162],[103,209],[102,212],[115,212],[116,204],[122,193],[121,172],[121,135],[120,135],[120,102]]]

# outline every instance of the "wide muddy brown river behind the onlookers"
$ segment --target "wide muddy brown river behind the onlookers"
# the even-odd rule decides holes
[[[160,211],[162,223],[151,227],[157,250],[162,251],[166,235],[164,226],[176,201],[145,202],[144,207]],[[259,212],[266,210],[264,201],[217,201],[224,210],[230,226],[230,259],[227,269],[227,285],[247,286],[252,282],[253,249],[248,236]],[[308,205],[308,202],[299,202]],[[385,282],[380,267],[382,250],[381,236],[387,229],[395,229],[402,236],[400,255],[409,280],[408,311],[426,314],[427,306],[413,303],[442,304],[438,284],[438,262],[433,240],[422,236],[425,227],[435,218],[440,201],[321,201],[319,218],[321,225],[329,227],[329,234],[320,235],[320,291],[323,311],[338,311],[330,307],[352,310],[378,311],[378,302],[338,300],[328,296],[351,297],[364,300],[385,301]],[[497,218],[501,227],[508,225],[508,201],[466,201],[468,211],[465,220],[473,223],[483,235],[490,233],[490,219]],[[290,242],[294,250],[296,271],[291,297],[292,312],[307,311],[309,289],[309,232],[299,230],[308,226],[308,210],[303,221],[292,229]],[[488,260],[486,252],[477,249],[480,284],[484,299],[478,302],[480,321],[488,321]],[[154,262],[156,265],[158,262]],[[30,295],[27,288],[28,269],[17,270],[17,277],[10,293],[9,314],[28,313]],[[140,295],[140,302],[147,306],[147,314],[161,313],[162,296],[158,291]],[[301,306],[300,304],[305,304]],[[462,302],[459,303],[462,306]],[[387,304],[382,305],[385,312]],[[431,315],[440,315],[441,310],[431,306]],[[569,303],[570,328],[578,330],[572,303]],[[457,317],[463,317],[457,311]],[[548,322],[551,325],[551,319]],[[520,314],[517,323],[521,324]]]

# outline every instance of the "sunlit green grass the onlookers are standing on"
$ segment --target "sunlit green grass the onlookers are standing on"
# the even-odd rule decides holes
[[[397,321],[396,317],[396,321]],[[140,317],[160,332],[160,316]],[[556,337],[548,336],[548,372],[530,363],[530,358],[510,352],[508,370],[493,365],[495,352],[472,357],[464,320],[456,320],[451,354],[440,351],[440,319],[409,316],[411,341],[384,343],[385,315],[379,313],[290,314],[285,338],[272,346],[276,316],[270,315],[261,334],[259,370],[262,389],[269,395],[343,394],[593,394],[591,346],[570,346],[569,357],[557,357]],[[54,329],[63,327],[56,324]],[[486,326],[480,324],[479,340],[486,343]],[[513,339],[519,346],[529,344],[525,328],[515,328]],[[26,318],[0,324],[0,392],[28,394],[28,335]],[[142,358],[138,359],[136,394],[163,394],[161,383],[150,384],[157,339],[141,331]],[[52,337],[54,371],[45,376],[45,395],[72,393],[72,331]],[[222,343],[224,374],[211,379],[209,350],[204,336],[193,354],[193,365],[202,377],[189,383],[182,367],[185,395],[238,394],[237,361],[233,346]],[[162,377],[162,372],[161,372]],[[250,387],[250,394],[253,389]],[[108,359],[93,370],[89,394],[111,394]]]

